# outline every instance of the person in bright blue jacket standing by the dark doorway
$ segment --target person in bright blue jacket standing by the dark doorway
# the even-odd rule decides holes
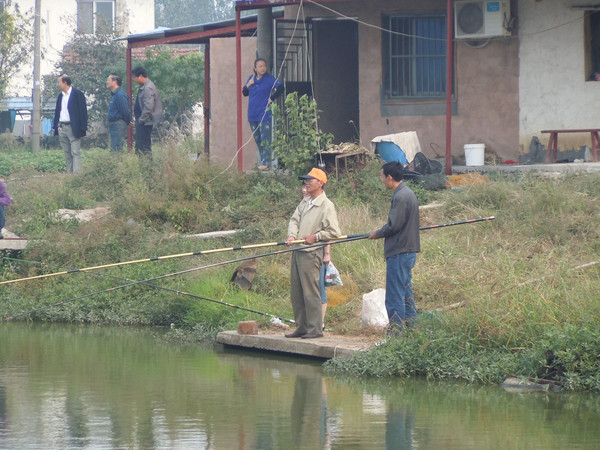
[[[271,110],[269,105],[283,92],[283,85],[267,72],[267,61],[254,61],[254,74],[242,88],[248,97],[248,122],[257,146],[256,165],[259,170],[271,167]]]

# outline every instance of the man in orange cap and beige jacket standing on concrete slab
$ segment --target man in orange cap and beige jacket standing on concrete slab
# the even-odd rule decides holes
[[[308,245],[335,239],[341,235],[335,206],[327,198],[323,187],[327,175],[314,167],[299,177],[310,199],[302,200],[288,225],[287,245],[304,239]],[[321,247],[302,248],[292,252],[290,297],[294,309],[296,329],[285,337],[312,339],[323,337],[323,316],[319,289],[319,270],[323,264]]]

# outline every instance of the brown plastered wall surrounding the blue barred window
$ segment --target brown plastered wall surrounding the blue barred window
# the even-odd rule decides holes
[[[382,14],[423,12],[425,2],[399,0],[390,3],[371,0],[328,3],[327,6],[379,27]],[[427,10],[433,9],[445,11],[446,2],[427,2]],[[513,9],[516,10],[516,6]],[[296,11],[295,7],[287,8],[286,18],[293,20]],[[304,14],[307,17],[334,15],[314,5],[306,5]],[[472,48],[462,41],[456,41],[455,51],[457,113],[452,117],[452,154],[463,156],[465,144],[484,143],[486,152],[495,152],[502,159],[515,159],[519,150],[518,40],[515,37],[495,39],[483,48]],[[387,134],[386,119],[389,119],[392,133],[416,131],[421,148],[428,157],[443,156],[446,146],[446,119],[443,113],[435,116],[382,115],[381,58],[381,30],[359,25],[358,95],[362,144],[369,147],[374,137]],[[324,111],[324,114],[327,112]]]

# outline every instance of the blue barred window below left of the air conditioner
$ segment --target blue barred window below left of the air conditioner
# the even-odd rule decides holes
[[[446,96],[446,15],[383,17],[383,94],[390,100]]]

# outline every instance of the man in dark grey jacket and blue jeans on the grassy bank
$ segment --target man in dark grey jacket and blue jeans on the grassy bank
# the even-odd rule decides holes
[[[390,335],[412,326],[417,317],[412,269],[417,253],[421,251],[419,202],[414,192],[402,181],[403,172],[399,161],[385,163],[381,168],[381,181],[394,194],[387,223],[369,235],[369,239],[385,238],[385,307],[390,321]]]

